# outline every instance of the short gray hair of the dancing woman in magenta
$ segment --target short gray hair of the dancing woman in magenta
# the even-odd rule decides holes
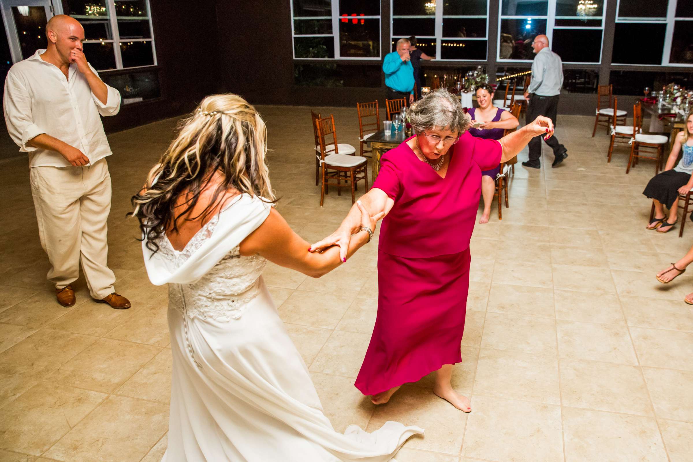
[[[462,135],[471,121],[457,96],[442,88],[431,91],[414,103],[409,109],[409,117],[416,134],[439,127]]]

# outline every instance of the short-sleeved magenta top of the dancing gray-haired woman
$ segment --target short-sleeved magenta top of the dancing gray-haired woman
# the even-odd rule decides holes
[[[378,249],[405,258],[465,251],[479,207],[481,172],[500,163],[500,143],[465,132],[448,150],[448,172],[441,178],[416,157],[410,139],[383,155],[373,184],[394,200]]]

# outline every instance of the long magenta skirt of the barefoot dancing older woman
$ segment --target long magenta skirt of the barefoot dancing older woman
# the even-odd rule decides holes
[[[378,251],[378,317],[356,388],[374,395],[462,361],[469,249],[430,258]]]

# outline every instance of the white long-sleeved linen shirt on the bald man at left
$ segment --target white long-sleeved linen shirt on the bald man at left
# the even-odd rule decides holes
[[[40,55],[45,52],[37,50],[13,65],[7,74],[3,102],[7,130],[19,151],[29,153],[30,167],[71,166],[58,152],[27,143],[42,133],[82,151],[89,165],[94,165],[112,154],[99,114],[118,114],[121,94],[106,85],[106,104],[101,103],[77,64],[70,64],[67,80],[58,66],[42,60]],[[96,73],[91,64],[89,67]]]

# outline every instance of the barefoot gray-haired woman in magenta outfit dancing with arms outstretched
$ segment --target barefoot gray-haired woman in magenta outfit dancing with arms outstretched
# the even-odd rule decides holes
[[[529,140],[553,134],[549,118],[496,141],[466,132],[459,100],[440,89],[412,105],[415,136],[380,161],[373,188],[361,197],[369,213],[385,211],[378,244],[378,316],[356,387],[375,404],[407,382],[437,371],[433,392],[462,411],[469,400],[450,386],[469,285],[469,240],[481,172],[516,156]],[[345,260],[361,213],[351,208],[339,229],[311,251],[339,245]]]

